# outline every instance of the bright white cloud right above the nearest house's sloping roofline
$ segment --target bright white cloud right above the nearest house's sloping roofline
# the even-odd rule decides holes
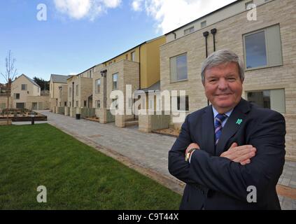
[[[156,21],[157,29],[167,33],[233,1],[235,0],[133,0],[132,9],[145,9],[147,15]]]

